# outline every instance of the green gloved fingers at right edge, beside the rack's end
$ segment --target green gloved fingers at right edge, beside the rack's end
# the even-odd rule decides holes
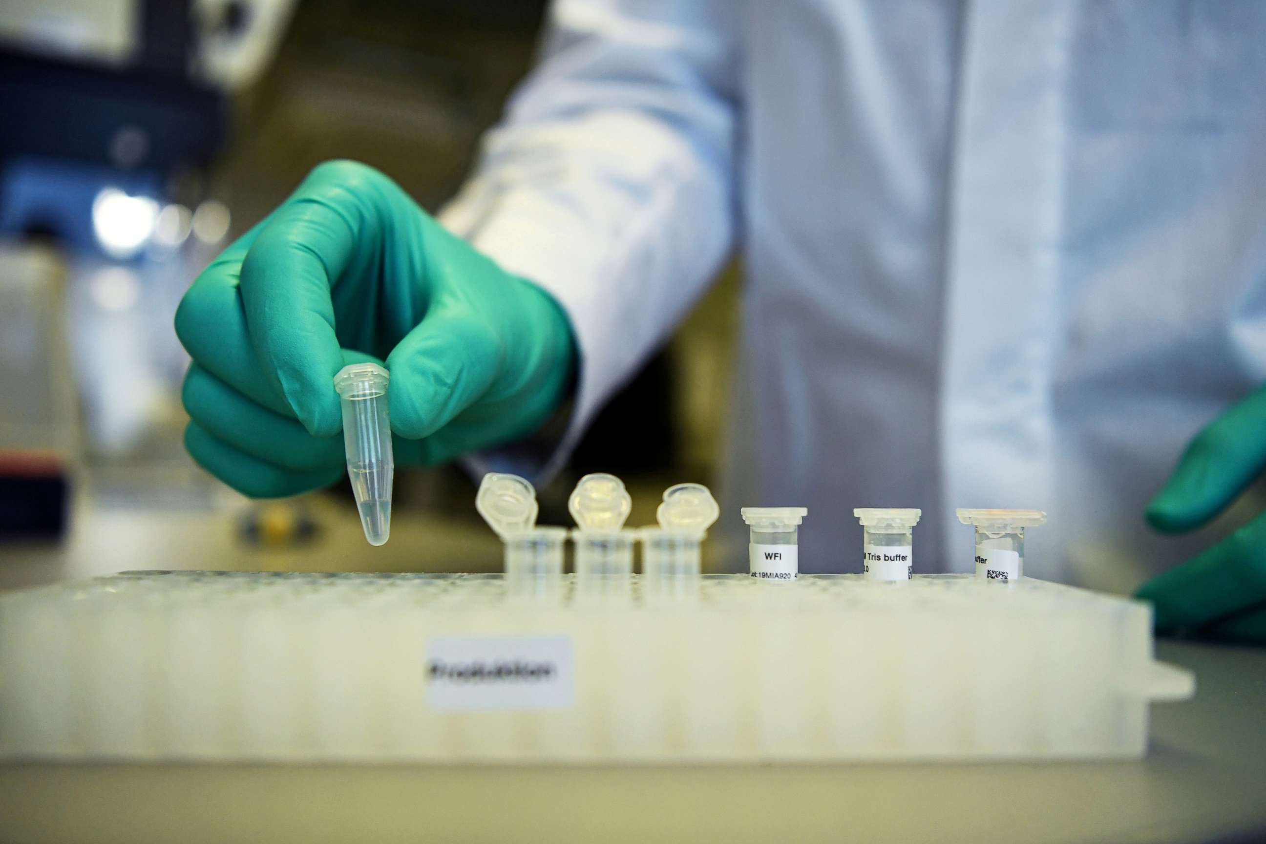
[[[1165,533],[1199,528],[1266,469],[1266,387],[1215,419],[1188,445],[1147,520]],[[1160,633],[1266,643],[1266,514],[1143,583]]]

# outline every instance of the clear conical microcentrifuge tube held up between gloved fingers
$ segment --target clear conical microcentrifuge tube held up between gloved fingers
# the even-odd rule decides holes
[[[343,405],[343,447],[361,526],[371,545],[391,533],[391,420],[387,416],[390,373],[377,363],[352,363],[334,376]]]

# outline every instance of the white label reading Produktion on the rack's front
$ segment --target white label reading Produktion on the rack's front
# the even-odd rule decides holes
[[[471,636],[427,644],[437,712],[566,709],[576,700],[571,636]]]

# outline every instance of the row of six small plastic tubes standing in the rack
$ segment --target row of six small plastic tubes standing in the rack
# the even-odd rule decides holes
[[[576,547],[580,578],[619,577],[633,572],[633,545],[642,543],[642,573],[651,580],[689,577],[700,572],[700,544],[720,515],[701,483],[677,483],[663,493],[655,526],[628,529],[633,500],[614,475],[586,475],[567,500],[576,528],[537,526],[536,490],[517,475],[484,476],[475,507],[505,542],[508,578],[561,574],[563,543]],[[751,529],[748,567],[752,577],[793,581],[799,573],[800,524],[806,507],[743,507]],[[862,572],[867,580],[904,581],[914,574],[917,509],[860,507]],[[957,510],[958,520],[976,528],[976,577],[1013,581],[1024,569],[1024,528],[1046,521],[1041,510]]]

